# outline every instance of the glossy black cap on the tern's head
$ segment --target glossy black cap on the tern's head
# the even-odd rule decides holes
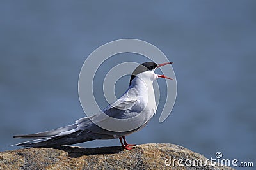
[[[144,71],[149,71],[149,70],[153,70],[156,67],[158,67],[158,65],[154,62],[144,62],[142,64],[140,64],[138,67],[136,67],[136,69],[134,69],[134,71],[132,72],[131,75],[131,79],[130,79],[130,84],[132,83],[132,80],[136,77],[136,75],[143,73]]]

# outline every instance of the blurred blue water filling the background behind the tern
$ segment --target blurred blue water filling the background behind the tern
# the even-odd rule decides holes
[[[156,45],[174,62],[178,94],[165,122],[158,123],[158,114],[127,140],[175,143],[213,158],[221,151],[224,158],[256,163],[255,5],[1,1],[0,150],[17,148],[8,147],[22,141],[13,139],[15,134],[45,131],[83,117],[77,80],[86,57],[109,41],[136,38]],[[122,57],[113,61],[102,70]],[[117,93],[127,88],[126,80],[118,83]],[[118,140],[79,144],[112,145],[119,145]]]

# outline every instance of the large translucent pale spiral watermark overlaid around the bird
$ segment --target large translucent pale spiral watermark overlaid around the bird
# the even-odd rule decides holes
[[[111,114],[105,114],[100,110],[95,96],[93,95],[93,86],[95,86],[93,80],[97,70],[111,56],[120,53],[136,53],[147,57],[148,61],[156,63],[170,62],[164,53],[156,46],[138,39],[119,39],[111,41],[94,50],[86,58],[81,68],[78,81],[78,92],[81,106],[84,113],[86,113],[93,123],[103,129],[115,132],[132,131],[134,129],[138,129],[138,127],[145,123],[143,122],[143,114],[138,114],[135,117],[127,119],[118,119],[111,117]],[[132,71],[134,71],[139,64],[140,63],[138,62],[122,62],[108,71],[104,78],[103,92],[104,97],[109,104],[111,104],[111,101],[113,102],[116,100],[115,83],[123,76],[131,75]],[[172,76],[174,80],[165,81],[167,87],[166,102],[160,115],[159,122],[163,122],[166,120],[168,115],[170,115],[177,94],[177,83],[172,66],[168,65],[163,68],[161,67],[161,71],[163,74]],[[109,89],[109,87],[113,88]],[[158,85],[155,90],[156,96],[160,96]],[[128,92],[127,95],[129,96],[130,93],[132,94],[133,92]],[[134,96],[131,95],[131,97]],[[159,102],[157,101],[157,104],[158,103]]]

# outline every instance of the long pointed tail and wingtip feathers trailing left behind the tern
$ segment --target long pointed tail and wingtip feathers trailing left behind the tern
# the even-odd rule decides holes
[[[75,124],[53,129],[51,131],[36,134],[18,135],[14,138],[32,138],[33,141],[18,143],[17,146],[23,147],[56,147],[62,145],[72,145],[92,141],[95,139],[113,139],[113,135],[101,134],[90,131],[92,129],[89,118],[81,118]],[[100,127],[94,127],[94,129]],[[13,145],[12,145],[13,146]]]

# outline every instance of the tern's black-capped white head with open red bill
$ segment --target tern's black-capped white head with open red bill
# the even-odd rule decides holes
[[[172,62],[165,62],[163,64],[156,64],[155,62],[144,62],[144,63],[140,64],[132,72],[129,85],[131,85],[132,80],[134,80],[134,78],[136,78],[136,76],[140,76],[141,78],[146,78],[146,79],[148,78],[149,80],[152,80],[152,81],[156,80],[157,78],[167,78],[167,79],[173,80],[172,78],[169,78],[167,76],[154,73],[154,71],[157,68],[167,65],[167,64],[172,64]]]

